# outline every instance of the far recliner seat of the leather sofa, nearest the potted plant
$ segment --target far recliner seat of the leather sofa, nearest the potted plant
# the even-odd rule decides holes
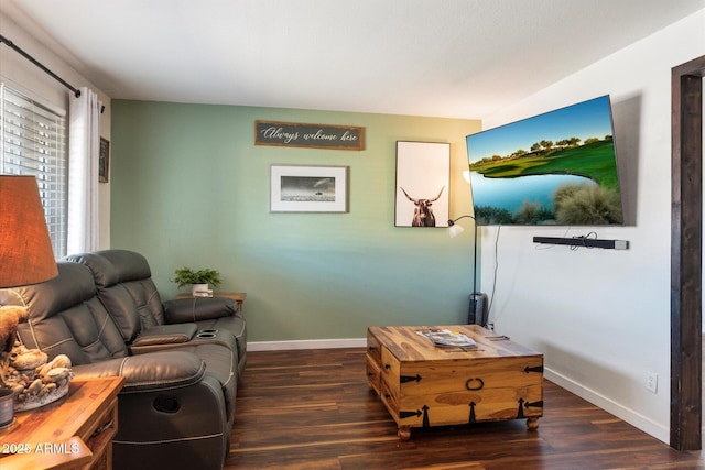
[[[133,352],[183,341],[221,342],[235,349],[238,378],[247,363],[247,328],[229,298],[197,297],[162,303],[147,259],[129,250],[73,254],[66,261],[90,270],[98,297]]]

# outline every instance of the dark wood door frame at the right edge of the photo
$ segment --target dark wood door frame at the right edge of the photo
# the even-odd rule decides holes
[[[705,56],[672,69],[671,447],[701,448],[703,77]]]

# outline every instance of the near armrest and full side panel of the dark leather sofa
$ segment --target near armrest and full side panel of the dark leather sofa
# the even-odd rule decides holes
[[[118,394],[115,468],[223,468],[232,420],[224,385],[195,354],[159,351],[73,369],[80,378],[126,379]]]

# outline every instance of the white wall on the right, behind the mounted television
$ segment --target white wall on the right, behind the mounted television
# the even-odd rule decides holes
[[[576,52],[579,53],[579,52]],[[484,120],[489,129],[609,94],[627,251],[534,245],[586,228],[482,229],[482,291],[497,331],[545,354],[546,376],[666,441],[670,420],[671,68],[705,54],[705,10]],[[517,76],[521,79],[521,75]],[[646,390],[648,372],[658,393]],[[546,407],[551,403],[545,404]]]

